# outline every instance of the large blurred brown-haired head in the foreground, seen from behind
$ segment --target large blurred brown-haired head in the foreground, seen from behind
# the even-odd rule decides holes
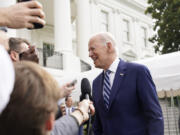
[[[39,65],[15,63],[15,84],[0,115],[0,134],[45,135],[52,130],[60,91],[57,82]]]

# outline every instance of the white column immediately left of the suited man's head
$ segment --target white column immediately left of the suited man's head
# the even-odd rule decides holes
[[[89,0],[77,0],[77,54],[80,59],[89,61],[88,40],[90,35]]]

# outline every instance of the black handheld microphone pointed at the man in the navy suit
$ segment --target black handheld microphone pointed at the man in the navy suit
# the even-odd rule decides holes
[[[91,97],[91,85],[90,82],[87,78],[83,78],[81,80],[81,96],[80,96],[80,101],[83,99],[90,99],[92,100]]]

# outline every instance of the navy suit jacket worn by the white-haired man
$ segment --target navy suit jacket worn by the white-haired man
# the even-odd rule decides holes
[[[109,109],[103,99],[102,72],[93,81],[95,135],[164,135],[162,110],[149,70],[120,60]]]

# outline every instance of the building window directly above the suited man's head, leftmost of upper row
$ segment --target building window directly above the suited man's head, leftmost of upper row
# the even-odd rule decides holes
[[[108,13],[101,11],[101,31],[108,31]]]

